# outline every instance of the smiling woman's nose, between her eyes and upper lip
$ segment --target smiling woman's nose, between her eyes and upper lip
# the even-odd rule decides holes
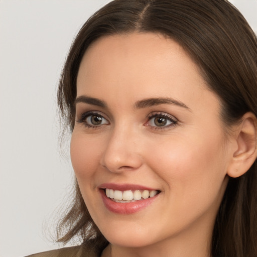
[[[122,127],[113,130],[105,144],[101,165],[110,172],[137,170],[142,165],[138,133]]]

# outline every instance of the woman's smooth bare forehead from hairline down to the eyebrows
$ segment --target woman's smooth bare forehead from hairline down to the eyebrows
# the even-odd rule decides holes
[[[174,40],[153,33],[107,36],[94,42],[80,64],[80,95],[115,108],[153,97],[172,97],[196,109],[211,106],[210,100],[215,110],[218,104],[187,52]]]

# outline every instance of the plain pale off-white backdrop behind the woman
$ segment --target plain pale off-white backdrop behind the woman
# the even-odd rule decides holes
[[[59,247],[51,222],[73,171],[68,143],[67,158],[59,151],[56,88],[74,36],[107,2],[0,0],[1,257]],[[257,0],[231,2],[257,32]]]

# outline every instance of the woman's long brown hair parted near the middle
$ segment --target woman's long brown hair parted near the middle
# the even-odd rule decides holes
[[[161,33],[177,41],[198,64],[222,103],[226,127],[251,111],[257,116],[257,39],[226,0],[115,0],[83,25],[68,54],[58,104],[70,130],[75,122],[76,79],[87,48],[100,37],[133,32]],[[100,252],[108,243],[92,221],[75,182],[74,202],[58,226],[58,241],[80,237]],[[93,243],[92,243],[93,242]],[[229,179],[212,236],[213,257],[257,256],[256,164]]]

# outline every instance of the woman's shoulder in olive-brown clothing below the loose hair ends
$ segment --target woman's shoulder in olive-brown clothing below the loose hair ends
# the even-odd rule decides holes
[[[44,251],[26,257],[97,257],[96,253],[85,250],[83,245]]]

